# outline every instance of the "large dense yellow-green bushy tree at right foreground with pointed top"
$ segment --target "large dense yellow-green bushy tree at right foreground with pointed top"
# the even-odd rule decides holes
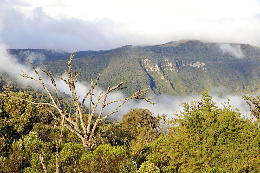
[[[182,103],[184,111],[155,146],[148,160],[164,172],[199,172],[222,168],[226,172],[259,172],[259,128],[241,118],[229,103],[219,108],[207,92],[199,101]]]

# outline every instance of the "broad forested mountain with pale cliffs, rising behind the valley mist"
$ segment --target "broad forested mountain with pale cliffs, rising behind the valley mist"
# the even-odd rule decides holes
[[[73,60],[73,69],[81,69],[81,81],[89,82],[98,74],[103,88],[127,81],[124,92],[128,95],[139,88],[173,96],[220,86],[234,93],[260,91],[260,48],[249,44],[180,40],[154,46],[127,45],[88,55],[79,53]],[[62,75],[69,56],[48,56],[43,68]]]

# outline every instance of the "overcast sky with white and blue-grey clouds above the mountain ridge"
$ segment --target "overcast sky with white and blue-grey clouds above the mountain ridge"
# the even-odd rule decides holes
[[[260,46],[260,1],[0,0],[8,48],[75,52],[182,39]]]

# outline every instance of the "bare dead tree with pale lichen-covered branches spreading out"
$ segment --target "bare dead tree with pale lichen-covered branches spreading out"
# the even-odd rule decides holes
[[[76,53],[75,53],[76,54]],[[74,55],[75,55],[74,54]],[[76,90],[75,90],[75,85],[76,85],[76,82],[79,78],[79,75],[80,75],[80,71],[78,73],[75,72],[75,76],[73,77],[73,72],[72,72],[72,66],[71,66],[71,62],[72,62],[72,59],[74,57],[74,55],[70,55],[70,61],[67,62],[68,64],[68,72],[65,71],[65,74],[67,76],[67,80],[66,79],[63,79],[61,76],[58,76],[61,80],[63,80],[67,85],[69,85],[69,88],[70,88],[70,91],[72,93],[72,98],[73,98],[73,101],[74,101],[74,106],[75,106],[75,110],[76,110],[76,117],[75,117],[75,121],[73,121],[70,117],[67,117],[66,116],[66,112],[67,111],[63,111],[63,107],[61,105],[61,101],[60,101],[60,97],[59,97],[59,93],[58,93],[58,89],[56,87],[56,84],[55,84],[55,81],[54,81],[54,78],[53,78],[53,75],[51,74],[51,72],[47,72],[45,70],[43,70],[41,68],[41,70],[46,73],[49,77],[50,77],[50,80],[54,86],[54,89],[55,89],[55,95],[56,95],[56,98],[51,94],[51,92],[49,91],[49,89],[47,88],[47,86],[44,84],[40,74],[36,71],[36,69],[34,68],[34,66],[32,65],[32,63],[29,61],[28,57],[28,62],[30,63],[31,67],[34,69],[34,72],[38,75],[39,79],[35,79],[34,77],[26,74],[25,72],[23,72],[23,74],[21,75],[23,78],[29,78],[29,79],[32,79],[32,80],[35,80],[36,82],[40,83],[43,88],[47,91],[49,97],[51,98],[51,101],[52,101],[52,104],[51,103],[40,103],[40,102],[31,102],[29,100],[25,100],[25,99],[20,99],[20,98],[16,98],[16,99],[20,99],[20,100],[24,100],[24,101],[28,101],[28,102],[31,102],[31,103],[34,103],[34,104],[43,104],[43,105],[48,105],[48,106],[52,106],[54,108],[56,108],[56,110],[60,113],[60,117],[57,117],[55,116],[55,114],[53,112],[51,112],[48,107],[46,106],[46,109],[48,110],[48,112],[50,112],[53,117],[59,121],[60,124],[62,124],[62,120],[64,119],[65,120],[65,123],[64,123],[64,126],[70,130],[71,132],[73,132],[74,134],[76,134],[82,141],[82,144],[84,146],[84,148],[86,150],[90,150],[92,151],[93,150],[93,146],[95,144],[95,138],[94,138],[94,134],[95,134],[95,130],[96,128],[98,127],[99,123],[105,119],[106,117],[108,117],[109,115],[117,112],[117,110],[119,109],[119,107],[121,107],[125,102],[127,102],[128,100],[131,100],[131,99],[144,99],[146,100],[147,102],[151,103],[151,104],[154,104],[151,102],[151,99],[148,99],[148,98],[144,98],[144,97],[141,97],[142,95],[146,94],[148,91],[148,89],[139,89],[139,91],[135,92],[133,95],[131,95],[130,97],[128,98],[124,98],[124,99],[119,99],[119,100],[114,100],[114,101],[110,101],[108,103],[106,103],[106,100],[107,100],[107,95],[108,93],[112,92],[112,91],[115,91],[115,90],[119,90],[119,89],[123,89],[125,87],[121,87],[123,84],[125,84],[126,82],[123,81],[121,82],[120,84],[114,86],[114,87],[111,87],[110,86],[107,88],[107,91],[105,93],[101,92],[99,94],[99,97],[97,98],[96,102],[93,102],[93,89],[94,87],[97,85],[97,81],[99,80],[99,77],[100,75],[97,77],[97,79],[95,81],[93,81],[91,79],[90,81],[90,89],[89,91],[86,93],[85,97],[83,98],[82,102],[80,103],[79,102],[79,97],[77,97],[76,95]],[[1,94],[0,94],[1,95]],[[8,97],[13,97],[9,94],[6,94],[4,96],[8,96]],[[81,108],[84,104],[84,101],[87,99],[87,97],[89,96],[89,112],[88,112],[88,121],[87,123],[85,124],[84,123],[84,119],[83,119],[83,116],[82,116],[82,111],[81,111]],[[15,98],[15,97],[14,97]],[[100,108],[100,111],[99,111],[99,114],[97,115],[96,117],[96,120],[95,120],[95,123],[94,123],[94,126],[90,127],[91,125],[91,121],[92,121],[92,117],[94,116],[94,113],[96,111],[96,107],[97,105],[100,103],[101,99],[103,99],[103,101],[101,102],[101,108]],[[119,104],[118,107],[115,108],[114,111],[106,114],[105,116],[101,117],[102,115],[102,112],[103,112],[103,108],[109,104],[112,104],[112,103],[115,103],[115,102],[120,102],[121,103]],[[93,107],[92,107],[93,105]],[[82,130],[80,129],[80,126],[82,128]]]

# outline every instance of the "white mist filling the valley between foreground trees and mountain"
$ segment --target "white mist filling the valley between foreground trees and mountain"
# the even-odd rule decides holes
[[[35,54],[30,54],[30,56],[33,59],[35,57]],[[25,73],[27,73],[31,76],[34,76],[36,79],[38,78],[35,75],[35,73],[33,72],[31,67],[21,65],[15,57],[11,56],[6,51],[6,46],[3,43],[0,44],[0,59],[2,61],[2,63],[0,64],[0,69],[1,68],[7,69],[14,76],[16,76],[18,80],[22,79],[21,76],[19,75],[19,74],[21,74],[21,70],[23,70]],[[36,68],[36,69],[38,69],[38,72],[41,72],[39,70],[39,68]],[[45,84],[51,85],[51,81],[48,78],[48,76],[46,76],[45,74],[41,75],[41,76],[42,76],[42,79],[44,80]],[[65,75],[63,75],[62,77],[64,79],[66,79]],[[26,84],[29,84],[29,82],[30,82],[31,85],[37,86],[38,88],[42,88],[40,86],[40,84],[36,84],[36,82],[34,82],[33,80],[24,79],[21,81],[25,82]],[[70,94],[70,89],[64,83],[64,81],[62,81],[60,79],[55,79],[55,83],[57,85],[57,88],[61,92]],[[83,97],[87,93],[88,89],[89,89],[88,83],[77,82],[76,91],[77,91],[77,96],[80,97],[79,98],[80,101],[83,99]],[[98,86],[95,87],[93,101],[95,101],[95,99],[98,97],[100,92],[102,92],[102,89],[100,89]],[[246,105],[246,102],[241,98],[240,95],[230,95],[230,91],[228,89],[226,89],[225,87],[212,88],[210,90],[210,92],[211,92],[210,94],[213,95],[213,100],[216,101],[219,106],[221,106],[222,102],[226,102],[227,98],[230,98],[231,105],[234,105],[235,108],[239,108],[241,113],[243,113],[245,116],[248,117],[248,114],[245,113],[245,111],[249,110],[249,108]],[[218,93],[218,95],[216,95],[216,93]],[[113,92],[108,95],[107,102],[112,101],[112,100],[122,99],[125,97],[126,96],[119,91]],[[180,106],[180,101],[181,102],[185,102],[185,101],[190,102],[191,100],[194,100],[194,98],[198,98],[200,96],[193,95],[193,96],[188,96],[188,97],[172,97],[169,95],[160,95],[159,97],[157,97],[157,96],[151,96],[151,95],[149,96],[149,94],[148,94],[148,95],[145,95],[145,97],[151,98],[152,102],[155,102],[157,104],[152,105],[152,104],[147,103],[145,100],[138,100],[138,101],[129,100],[128,102],[126,102],[126,104],[124,104],[121,108],[119,108],[117,113],[110,116],[110,118],[120,120],[122,118],[122,116],[124,114],[126,114],[127,112],[129,112],[129,110],[131,108],[136,108],[136,107],[147,108],[152,113],[154,113],[154,116],[156,116],[158,113],[159,114],[166,113],[166,114],[168,114],[168,117],[173,117],[174,113],[179,113],[179,111],[183,110],[183,108]],[[100,102],[102,102],[102,100]],[[86,100],[85,104],[86,104],[86,106],[88,106],[88,99]],[[103,115],[113,111],[119,104],[120,103],[115,103],[115,104],[106,106],[104,108]],[[96,113],[99,113],[100,104],[96,110],[97,110]]]

